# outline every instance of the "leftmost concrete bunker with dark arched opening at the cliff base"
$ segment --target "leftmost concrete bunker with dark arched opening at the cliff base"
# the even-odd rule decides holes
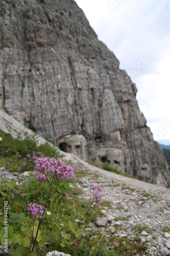
[[[57,140],[60,150],[87,160],[87,141],[83,135],[66,135]]]

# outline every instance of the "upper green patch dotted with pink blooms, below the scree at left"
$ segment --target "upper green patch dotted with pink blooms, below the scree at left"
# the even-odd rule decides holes
[[[7,167],[11,172],[23,173],[25,171],[34,169],[34,160],[32,156],[44,156],[58,158],[60,154],[56,149],[48,143],[37,146],[37,141],[26,138],[12,138],[10,134],[4,133],[0,130],[0,136],[3,138],[0,141],[0,166]],[[31,155],[31,157],[28,157]],[[8,162],[10,165],[7,165]]]

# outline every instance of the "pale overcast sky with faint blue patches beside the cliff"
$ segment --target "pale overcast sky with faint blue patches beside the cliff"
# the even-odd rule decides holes
[[[154,139],[170,140],[170,1],[76,2],[136,83],[138,105]]]

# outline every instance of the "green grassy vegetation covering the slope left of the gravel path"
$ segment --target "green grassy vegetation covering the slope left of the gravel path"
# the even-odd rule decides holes
[[[23,173],[25,170],[34,170],[33,155],[58,158],[56,150],[48,144],[37,146],[34,139],[13,139],[9,134],[0,131],[3,138],[0,141],[1,155],[0,166],[6,166],[11,172]],[[30,155],[31,157],[28,157]],[[12,161],[11,161],[12,160]],[[9,162],[10,165],[6,165]],[[31,166],[31,167],[30,167]],[[81,164],[76,166],[76,179],[62,181],[59,189],[50,199],[41,223],[38,241],[36,243],[36,253],[34,255],[46,255],[47,251],[58,250],[71,255],[135,255],[144,254],[145,247],[139,243],[131,243],[127,238],[113,237],[108,239],[105,234],[100,233],[100,228],[93,232],[87,232],[86,237],[75,233],[72,225],[76,226],[75,219],[81,219],[87,211],[90,202],[80,199],[81,189],[77,187],[78,181],[87,174],[87,170],[82,168]],[[90,174],[89,174],[90,175]],[[54,185],[57,185],[57,181]],[[28,215],[28,203],[39,202],[40,186],[34,175],[30,175],[28,181],[10,182],[1,180],[0,194],[4,200],[1,200],[0,214],[3,216],[4,201],[8,201],[8,239],[13,255],[27,255],[32,233],[32,219]],[[42,193],[42,204],[45,203],[48,195],[49,186],[45,183]],[[67,195],[67,194],[69,195]],[[82,232],[88,227],[89,222],[93,222],[96,217],[102,217],[101,209],[107,206],[109,202],[103,202],[101,207],[94,206],[88,212],[87,217],[82,224]],[[35,229],[38,221],[35,222]],[[4,242],[3,218],[0,222],[1,244]],[[65,235],[66,232],[66,235]],[[75,234],[74,234],[75,233]],[[72,236],[71,245],[66,245],[65,236]],[[91,239],[92,238],[92,239]],[[126,242],[126,244],[125,244]],[[137,241],[136,241],[137,242]],[[138,241],[139,242],[139,241]],[[32,254],[33,256],[33,254]]]

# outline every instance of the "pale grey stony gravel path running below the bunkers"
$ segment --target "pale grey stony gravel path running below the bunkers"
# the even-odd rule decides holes
[[[82,199],[90,199],[91,185],[97,184],[103,188],[105,200],[111,202],[110,207],[101,208],[103,217],[89,223],[86,233],[98,229],[110,239],[127,237],[144,244],[148,248],[144,255],[170,255],[170,189],[110,173],[74,158],[76,165],[83,164],[82,170],[88,169],[80,180],[81,186],[78,184],[83,190]]]

